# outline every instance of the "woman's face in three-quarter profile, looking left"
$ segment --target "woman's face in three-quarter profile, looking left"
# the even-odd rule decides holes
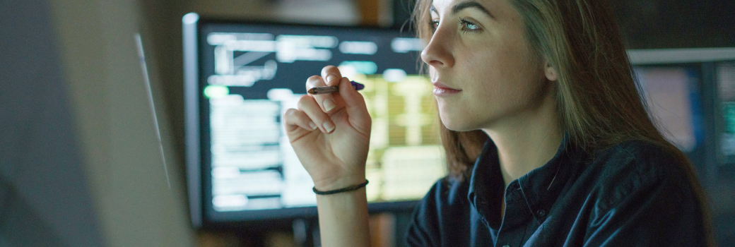
[[[514,125],[550,93],[545,62],[507,0],[434,0],[431,19],[434,34],[421,59],[448,129]]]

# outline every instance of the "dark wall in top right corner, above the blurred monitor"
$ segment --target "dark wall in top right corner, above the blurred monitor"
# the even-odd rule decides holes
[[[735,47],[735,1],[611,0],[628,48]]]

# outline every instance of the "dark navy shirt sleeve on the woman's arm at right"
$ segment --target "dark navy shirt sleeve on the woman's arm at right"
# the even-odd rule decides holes
[[[598,197],[584,246],[706,246],[701,204],[684,175],[636,174]]]

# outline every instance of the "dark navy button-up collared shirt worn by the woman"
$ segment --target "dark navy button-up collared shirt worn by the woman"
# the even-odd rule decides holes
[[[701,206],[678,162],[644,141],[584,152],[565,137],[551,161],[505,188],[497,148],[487,141],[470,180],[445,177],[418,204],[406,241],[409,246],[705,246]]]

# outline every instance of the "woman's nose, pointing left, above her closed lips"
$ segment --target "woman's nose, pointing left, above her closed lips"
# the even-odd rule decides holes
[[[451,32],[448,28],[439,25],[429,44],[421,51],[421,60],[434,69],[454,66],[454,56],[451,52]]]

